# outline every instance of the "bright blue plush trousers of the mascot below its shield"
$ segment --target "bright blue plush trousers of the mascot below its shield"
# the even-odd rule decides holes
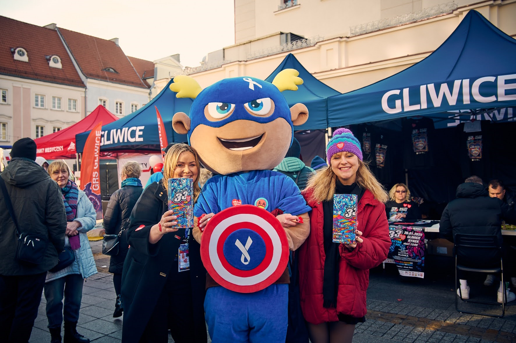
[[[254,293],[209,287],[204,299],[209,336],[219,342],[284,343],[288,324],[288,285],[273,284]]]

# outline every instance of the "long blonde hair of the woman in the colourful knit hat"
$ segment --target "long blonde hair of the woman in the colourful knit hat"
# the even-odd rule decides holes
[[[342,152],[336,153],[342,154]],[[335,156],[336,154],[333,154]],[[333,157],[332,156],[332,157]],[[340,156],[340,155],[339,155]],[[310,201],[331,201],[335,193],[335,182],[337,175],[331,169],[330,165],[317,170],[308,180],[307,189],[313,189]],[[368,189],[378,201],[385,203],[389,200],[387,192],[378,182],[375,175],[369,170],[367,162],[358,160],[358,170],[356,183],[365,189]]]

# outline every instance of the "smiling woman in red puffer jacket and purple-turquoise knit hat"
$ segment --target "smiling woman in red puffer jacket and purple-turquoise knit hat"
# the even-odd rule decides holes
[[[383,204],[388,195],[350,130],[335,130],[326,151],[330,166],[303,191],[312,213],[310,236],[299,248],[301,309],[313,343],[351,342],[354,326],[365,321],[369,269],[385,260],[391,246]],[[356,243],[332,242],[333,194],[357,194]]]

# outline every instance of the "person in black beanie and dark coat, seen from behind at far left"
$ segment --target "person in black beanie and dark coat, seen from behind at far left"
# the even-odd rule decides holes
[[[46,272],[65,248],[67,219],[61,190],[36,162],[36,143],[22,138],[12,145],[12,159],[0,177],[22,233],[45,237],[41,262],[18,261],[17,225],[0,191],[0,342],[27,342],[38,315]]]

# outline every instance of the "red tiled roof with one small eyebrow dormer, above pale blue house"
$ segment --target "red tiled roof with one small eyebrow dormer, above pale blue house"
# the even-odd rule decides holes
[[[127,56],[115,42],[60,27],[58,30],[86,77],[127,86],[149,88],[140,79]],[[104,71],[106,68],[112,68],[116,73]]]

